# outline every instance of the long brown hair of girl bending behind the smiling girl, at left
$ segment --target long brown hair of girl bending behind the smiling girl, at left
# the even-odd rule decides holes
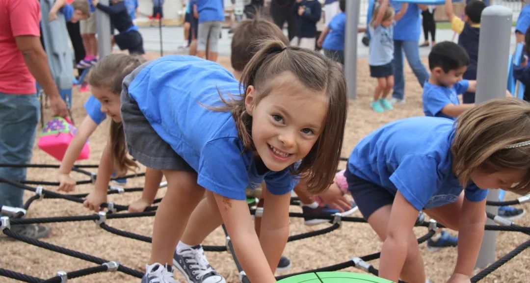
[[[142,57],[126,54],[105,56],[90,70],[88,82],[92,86],[107,89],[119,96],[123,78],[133,72],[143,61]],[[125,132],[123,132],[123,124],[121,122],[111,121],[109,143],[111,146],[112,163],[118,171],[118,175],[123,175],[127,170],[134,170],[138,167],[127,156]]]

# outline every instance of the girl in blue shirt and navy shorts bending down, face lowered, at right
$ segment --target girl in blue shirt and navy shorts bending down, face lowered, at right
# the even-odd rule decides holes
[[[380,277],[425,282],[412,232],[423,210],[458,231],[458,260],[447,282],[469,282],[484,233],[487,189],[530,191],[529,121],[527,102],[504,98],[464,112],[456,124],[402,119],[361,140],[345,175],[359,210],[384,241]]]

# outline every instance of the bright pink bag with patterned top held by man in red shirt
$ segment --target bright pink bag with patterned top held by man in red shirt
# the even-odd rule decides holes
[[[77,128],[61,117],[54,117],[46,124],[39,137],[39,148],[55,157],[58,161],[63,161],[66,149],[77,132]],[[81,154],[76,160],[87,159],[90,156],[89,142],[83,146]]]

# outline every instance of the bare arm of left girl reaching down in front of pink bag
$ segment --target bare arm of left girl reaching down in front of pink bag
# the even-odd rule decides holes
[[[70,192],[75,189],[75,180],[70,178],[70,171],[72,171],[72,166],[74,165],[77,156],[79,156],[83,150],[86,140],[92,135],[97,127],[98,124],[87,115],[81,123],[81,126],[77,129],[77,134],[75,134],[72,142],[68,145],[61,166],[59,167],[59,191]]]

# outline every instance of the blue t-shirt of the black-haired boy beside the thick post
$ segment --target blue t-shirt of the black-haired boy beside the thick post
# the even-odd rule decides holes
[[[460,104],[458,101],[458,94],[462,94],[469,88],[469,81],[462,79],[462,81],[453,85],[453,87],[439,86],[425,82],[423,85],[423,112],[425,116],[443,117],[456,120],[456,117],[447,116],[441,112],[447,104]]]

